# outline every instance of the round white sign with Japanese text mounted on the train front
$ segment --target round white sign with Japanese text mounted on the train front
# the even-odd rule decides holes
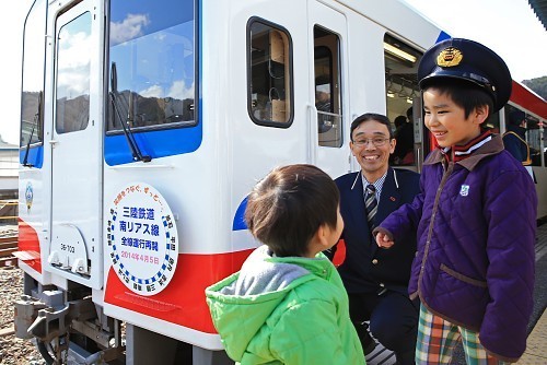
[[[113,269],[128,289],[149,296],[168,285],[178,258],[178,235],[158,190],[143,182],[119,189],[106,232]]]

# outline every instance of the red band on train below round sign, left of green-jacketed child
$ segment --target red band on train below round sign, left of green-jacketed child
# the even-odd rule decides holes
[[[217,333],[206,303],[205,289],[238,271],[253,249],[214,255],[179,254],[167,287],[153,296],[131,292],[110,267],[105,303],[206,333]]]

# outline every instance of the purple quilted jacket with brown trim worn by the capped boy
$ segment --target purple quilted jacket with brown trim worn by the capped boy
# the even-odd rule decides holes
[[[410,296],[479,332],[496,357],[516,362],[533,307],[537,197],[531,176],[494,136],[457,163],[433,151],[420,186],[411,204],[376,228],[397,245],[419,221]]]

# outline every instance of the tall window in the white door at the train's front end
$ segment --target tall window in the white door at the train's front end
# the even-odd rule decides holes
[[[56,131],[83,130],[90,119],[91,14],[59,28],[57,38]]]

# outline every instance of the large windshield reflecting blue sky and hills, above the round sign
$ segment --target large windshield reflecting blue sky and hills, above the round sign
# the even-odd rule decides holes
[[[196,123],[196,19],[193,0],[112,0],[107,131]],[[114,72],[113,72],[114,69]],[[113,86],[115,90],[113,90]]]

